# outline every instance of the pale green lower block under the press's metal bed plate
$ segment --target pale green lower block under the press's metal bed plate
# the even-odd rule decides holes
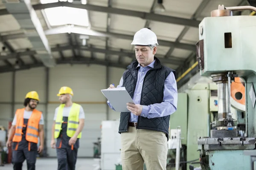
[[[201,164],[202,170],[250,170],[250,156],[244,150],[211,150],[208,152],[209,162]]]

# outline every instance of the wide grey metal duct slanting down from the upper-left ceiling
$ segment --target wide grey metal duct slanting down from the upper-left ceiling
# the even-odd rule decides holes
[[[52,58],[49,42],[30,0],[11,3],[8,0],[3,0],[3,5],[19,23],[20,29],[25,30],[26,37],[31,42],[33,49],[40,51],[37,57],[41,59],[45,66],[54,67],[56,63]],[[20,59],[19,61],[22,63]]]

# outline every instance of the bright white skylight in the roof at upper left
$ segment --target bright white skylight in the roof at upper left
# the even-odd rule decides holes
[[[41,3],[56,3],[58,0],[41,0]],[[68,0],[69,2],[69,0]],[[55,7],[44,9],[45,15],[51,26],[77,25],[89,26],[88,13],[86,9],[71,7]]]

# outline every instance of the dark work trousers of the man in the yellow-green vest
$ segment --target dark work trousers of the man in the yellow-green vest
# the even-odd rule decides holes
[[[57,148],[58,170],[75,170],[77,148]]]

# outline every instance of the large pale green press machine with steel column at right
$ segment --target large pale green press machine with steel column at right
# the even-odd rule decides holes
[[[201,76],[212,77],[218,85],[218,120],[212,122],[210,136],[198,139],[203,170],[249,170],[256,140],[256,17],[232,16],[232,11],[253,10],[252,6],[219,5],[199,24],[196,44]],[[230,111],[230,84],[244,80],[245,134],[238,136],[237,120]]]

